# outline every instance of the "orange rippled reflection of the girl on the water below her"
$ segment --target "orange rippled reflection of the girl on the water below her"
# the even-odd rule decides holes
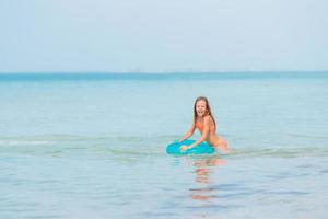
[[[189,188],[190,197],[195,200],[195,208],[211,208],[213,200],[218,198],[218,187],[211,187],[211,174],[214,166],[224,165],[226,161],[214,157],[197,158],[192,165],[196,168],[196,185],[197,188]],[[196,218],[208,218],[207,214],[195,215]]]

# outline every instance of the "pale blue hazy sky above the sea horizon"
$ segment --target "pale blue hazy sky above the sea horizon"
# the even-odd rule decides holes
[[[328,70],[327,0],[1,0],[0,72]]]

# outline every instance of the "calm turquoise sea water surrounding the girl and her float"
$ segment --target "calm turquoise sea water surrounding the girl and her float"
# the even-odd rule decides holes
[[[166,154],[199,95],[230,154]],[[328,72],[0,74],[0,218],[326,219],[327,206]]]

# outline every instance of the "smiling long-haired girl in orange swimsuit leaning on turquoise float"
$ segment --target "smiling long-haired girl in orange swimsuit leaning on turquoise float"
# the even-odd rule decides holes
[[[181,146],[180,147],[181,151],[198,146],[202,141],[207,141],[209,145],[213,146],[216,150],[220,148],[222,151],[227,152],[226,140],[224,140],[222,137],[219,137],[215,134],[216,130],[215,119],[212,115],[209,101],[204,96],[199,96],[198,99],[196,99],[194,104],[192,126],[190,130],[188,130],[186,135],[179,140],[179,142],[192,136],[196,128],[198,128],[198,130],[200,131],[201,137],[190,146]]]

